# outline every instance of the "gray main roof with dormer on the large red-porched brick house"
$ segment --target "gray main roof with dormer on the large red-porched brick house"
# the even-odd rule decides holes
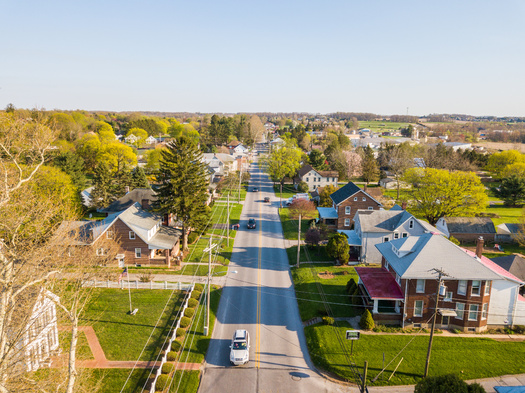
[[[497,280],[500,272],[482,263],[441,235],[426,233],[376,244],[388,263],[404,279],[435,279],[442,269],[447,280]]]

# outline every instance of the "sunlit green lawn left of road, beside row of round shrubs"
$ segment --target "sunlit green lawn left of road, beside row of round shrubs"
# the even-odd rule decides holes
[[[140,360],[154,359],[169,333],[183,296],[179,291],[132,289],[132,307],[139,311],[131,316],[128,314],[128,291],[95,289],[80,325],[93,326],[108,360],[137,360],[144,347]]]

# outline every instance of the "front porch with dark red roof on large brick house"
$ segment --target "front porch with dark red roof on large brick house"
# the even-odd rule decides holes
[[[384,268],[356,267],[363,304],[374,321],[399,324],[403,320],[404,296],[392,274]]]

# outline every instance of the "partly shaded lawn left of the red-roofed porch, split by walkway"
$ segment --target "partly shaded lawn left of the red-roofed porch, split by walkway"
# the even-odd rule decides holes
[[[313,270],[313,273],[312,273]],[[317,274],[330,272],[333,278],[319,278]],[[346,274],[345,274],[346,272]],[[299,269],[292,269],[292,278],[295,285],[295,295],[299,304],[301,320],[307,321],[314,317],[326,315],[321,295],[317,289],[317,278],[330,303],[334,317],[352,317],[355,315],[346,294],[346,283],[351,278],[357,282],[357,274],[353,267],[327,266],[325,264],[302,265]]]

